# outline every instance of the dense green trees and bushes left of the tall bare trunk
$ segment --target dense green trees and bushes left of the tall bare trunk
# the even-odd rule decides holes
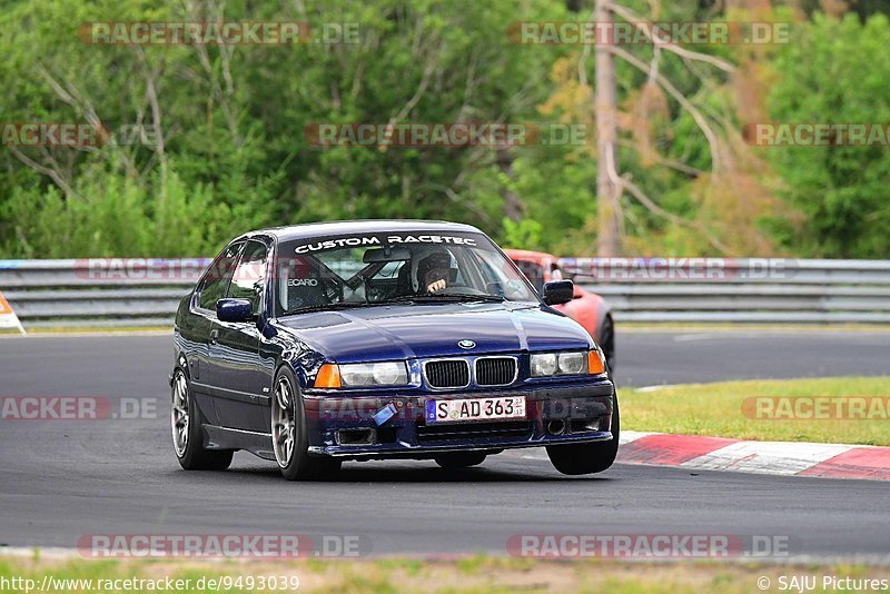
[[[505,184],[487,148],[317,148],[319,122],[524,121],[545,97],[551,51],[513,46],[518,16],[558,17],[551,0],[256,7],[228,2],[226,20],[358,22],[358,44],[285,47],[90,46],[82,21],[217,20],[179,3],[20,0],[0,14],[13,51],[7,121],[152,125],[162,147],[21,149],[59,164],[65,194],[11,151],[0,154],[4,256],[207,255],[233,232],[320,219],[436,218],[501,232]],[[71,99],[71,100],[68,100]],[[55,166],[53,166],[55,168]],[[168,181],[164,182],[164,178]],[[524,197],[523,197],[524,198]],[[197,230],[192,227],[198,226]],[[65,237],[65,248],[51,245]],[[195,254],[195,253],[192,253]]]

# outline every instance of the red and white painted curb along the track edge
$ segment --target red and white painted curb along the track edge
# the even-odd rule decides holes
[[[890,481],[890,447],[621,432],[617,462],[730,471]]]

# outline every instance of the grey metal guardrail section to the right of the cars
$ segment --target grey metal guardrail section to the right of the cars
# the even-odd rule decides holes
[[[890,260],[563,258],[624,321],[890,324]]]

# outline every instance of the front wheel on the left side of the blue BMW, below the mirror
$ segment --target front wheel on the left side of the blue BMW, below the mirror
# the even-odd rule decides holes
[[[309,434],[303,396],[294,373],[283,367],[275,376],[271,398],[271,438],[275,459],[288,481],[326,478],[340,469],[340,461],[309,454]]]

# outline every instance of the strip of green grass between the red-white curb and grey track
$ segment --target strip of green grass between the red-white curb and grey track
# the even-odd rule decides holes
[[[880,410],[867,419],[800,419],[788,415],[756,418],[754,402],[745,400],[759,396],[882,397],[881,410],[890,415],[890,377],[721,382],[644,392],[621,389],[622,428],[738,439],[890,446],[890,418]]]

